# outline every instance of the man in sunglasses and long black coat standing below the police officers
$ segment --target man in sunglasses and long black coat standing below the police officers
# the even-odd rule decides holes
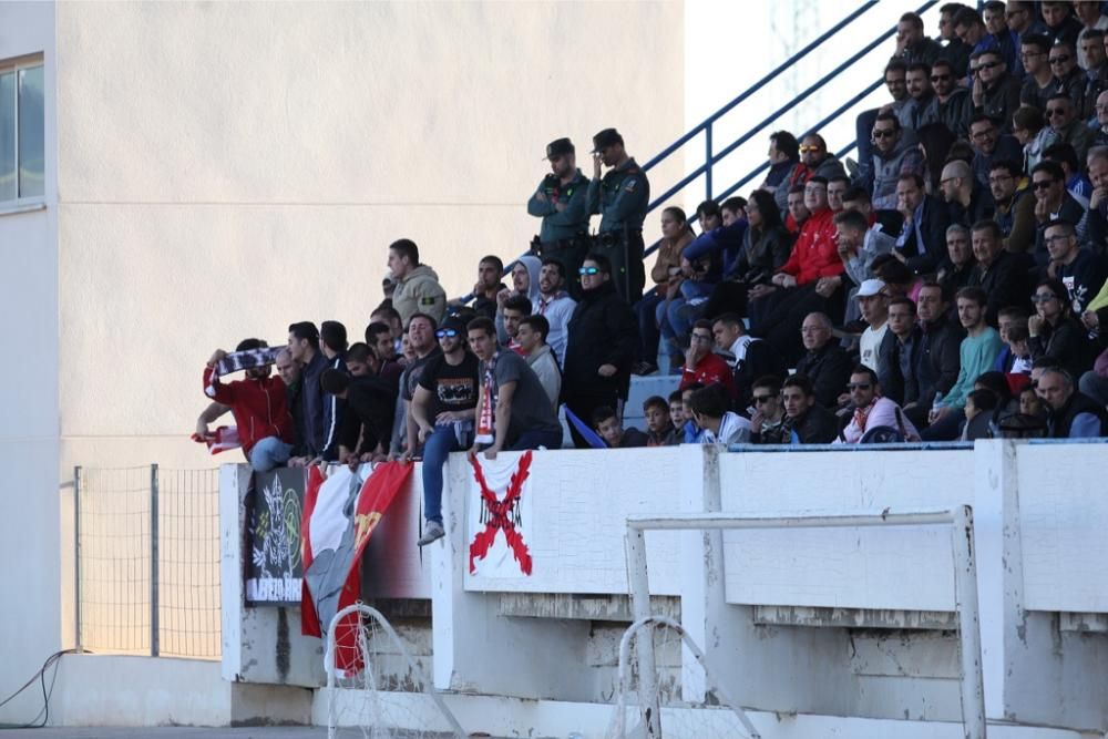
[[[566,327],[562,401],[588,423],[597,408],[617,408],[627,399],[638,353],[638,321],[616,292],[606,256],[587,255],[579,273],[581,300]],[[577,449],[589,448],[572,424],[570,430]]]

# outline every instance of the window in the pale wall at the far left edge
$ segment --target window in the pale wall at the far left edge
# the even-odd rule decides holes
[[[0,203],[45,194],[42,62],[0,62]]]

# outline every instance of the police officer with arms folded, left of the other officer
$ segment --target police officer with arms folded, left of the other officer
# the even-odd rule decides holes
[[[577,168],[576,150],[568,138],[548,143],[546,158],[551,173],[527,201],[527,213],[543,219],[534,250],[561,261],[579,291],[577,270],[589,246],[588,177]]]

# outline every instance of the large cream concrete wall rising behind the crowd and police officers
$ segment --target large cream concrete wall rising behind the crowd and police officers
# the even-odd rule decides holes
[[[452,295],[519,255],[548,141],[679,134],[663,28],[679,2],[60,3],[62,361],[114,368],[62,374],[63,469],[214,466],[212,350],[360,336],[400,236]]]

